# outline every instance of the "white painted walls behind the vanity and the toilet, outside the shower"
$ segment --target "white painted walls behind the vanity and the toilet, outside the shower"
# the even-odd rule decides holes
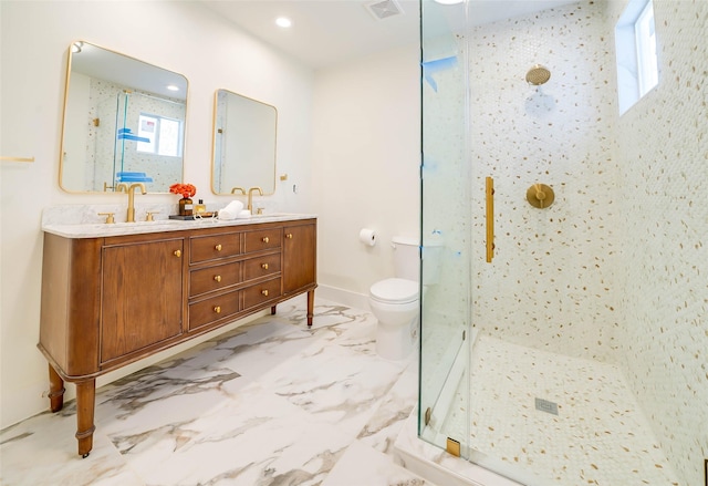
[[[267,209],[319,214],[317,296],[366,306],[368,287],[393,273],[391,237],[417,236],[416,45],[315,75],[223,24],[198,2],[3,0],[0,21],[0,155],[35,157],[32,164],[0,165],[0,427],[49,405],[43,397],[46,362],[35,348],[42,209],[58,204],[124,204],[119,195],[69,195],[59,188],[66,53],[75,40],[189,80],[185,182],[195,184],[197,197],[206,203],[228,201],[209,192],[216,90],[278,107],[278,174],[288,174],[288,180],[278,179],[275,195],[260,203]],[[138,207],[142,200],[176,204],[171,195],[138,196]],[[379,232],[374,248],[357,241],[365,226]],[[128,366],[98,384],[135,369]],[[72,396],[70,386],[66,399]]]

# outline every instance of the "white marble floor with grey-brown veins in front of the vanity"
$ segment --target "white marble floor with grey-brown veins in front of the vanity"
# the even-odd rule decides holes
[[[430,485],[391,447],[416,403],[416,358],[378,358],[366,311],[317,300],[308,328],[305,309],[292,299],[98,389],[86,458],[75,402],[0,431],[0,484]],[[347,483],[357,457],[364,482]]]

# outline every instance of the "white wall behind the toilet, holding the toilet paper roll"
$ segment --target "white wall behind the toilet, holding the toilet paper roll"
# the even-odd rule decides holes
[[[317,72],[320,294],[366,306],[371,285],[393,277],[391,238],[418,236],[419,69],[419,49],[410,45]],[[358,241],[361,228],[377,231],[376,246]]]

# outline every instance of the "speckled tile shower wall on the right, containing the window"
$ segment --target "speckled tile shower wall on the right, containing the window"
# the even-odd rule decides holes
[[[612,2],[614,24],[624,2]],[[708,2],[654,0],[659,84],[618,122],[625,376],[687,485],[708,457]]]

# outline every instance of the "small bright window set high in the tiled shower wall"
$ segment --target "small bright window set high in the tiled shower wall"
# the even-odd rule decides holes
[[[615,27],[615,50],[620,114],[623,114],[659,81],[652,0],[629,0]]]

